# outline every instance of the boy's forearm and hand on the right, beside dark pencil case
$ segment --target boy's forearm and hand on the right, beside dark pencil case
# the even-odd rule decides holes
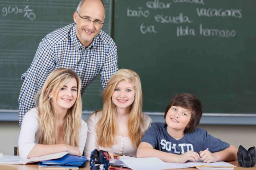
[[[228,148],[216,153],[211,153],[208,150],[200,151],[200,157],[206,163],[216,161],[234,161],[238,159],[237,153],[238,149],[235,146],[230,145]]]

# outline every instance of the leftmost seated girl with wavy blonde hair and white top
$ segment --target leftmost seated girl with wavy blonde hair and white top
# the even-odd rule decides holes
[[[87,124],[82,120],[81,80],[75,72],[58,68],[46,79],[36,108],[23,119],[18,147],[22,158],[68,151],[82,155]]]

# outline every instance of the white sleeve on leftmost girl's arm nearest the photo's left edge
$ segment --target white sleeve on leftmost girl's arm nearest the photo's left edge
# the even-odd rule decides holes
[[[23,159],[27,159],[27,155],[35,146],[35,137],[38,133],[38,116],[33,110],[27,112],[24,116],[23,123],[18,137],[19,155]]]

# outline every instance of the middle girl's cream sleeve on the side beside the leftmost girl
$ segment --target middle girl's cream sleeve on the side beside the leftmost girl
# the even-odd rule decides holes
[[[96,113],[93,113],[88,119],[87,119],[87,126],[88,126],[88,134],[87,134],[87,140],[85,143],[84,148],[84,155],[87,157],[91,156],[91,151],[94,149],[99,150],[99,145],[97,142],[97,132],[96,132],[96,124],[98,123],[96,119]]]

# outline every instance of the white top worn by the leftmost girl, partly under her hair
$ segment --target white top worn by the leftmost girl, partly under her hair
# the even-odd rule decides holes
[[[87,137],[87,123],[81,119],[81,130],[79,137],[79,150],[82,153]],[[28,153],[33,149],[35,144],[39,141],[39,123],[38,111],[36,108],[29,110],[22,122],[18,137],[18,150],[21,158],[26,159]]]

